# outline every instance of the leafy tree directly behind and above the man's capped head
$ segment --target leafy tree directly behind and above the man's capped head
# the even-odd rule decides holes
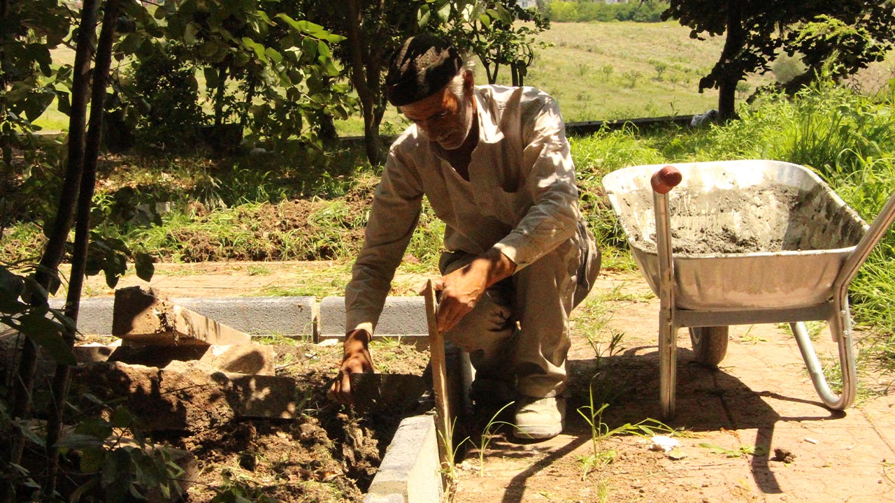
[[[363,137],[372,164],[385,160],[379,124],[388,102],[383,82],[388,62],[401,42],[421,30],[439,32],[482,59],[489,80],[507,65],[522,83],[533,61],[534,34],[547,21],[515,0],[307,0],[303,12],[328,30],[347,38],[334,50],[357,93],[363,114]],[[533,21],[517,24],[515,21]]]

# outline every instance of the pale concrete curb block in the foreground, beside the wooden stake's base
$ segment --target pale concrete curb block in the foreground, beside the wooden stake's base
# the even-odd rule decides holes
[[[437,503],[444,499],[437,437],[431,415],[402,421],[363,503]]]

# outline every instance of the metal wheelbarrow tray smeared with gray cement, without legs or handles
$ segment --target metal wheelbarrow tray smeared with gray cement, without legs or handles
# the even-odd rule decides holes
[[[650,176],[661,166],[666,165],[631,166],[602,180],[634,259],[657,295]],[[675,251],[678,309],[798,309],[831,298],[834,279],[868,227],[819,176],[805,166],[772,160],[672,166],[683,175],[669,192],[672,244],[676,238],[698,242],[703,234],[729,234],[736,241],[746,231],[766,243],[748,252],[737,252],[737,243],[720,247],[733,252]],[[744,192],[750,197],[719,204],[720,195]]]

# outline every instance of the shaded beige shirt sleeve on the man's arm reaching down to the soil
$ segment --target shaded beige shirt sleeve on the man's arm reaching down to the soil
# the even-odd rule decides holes
[[[345,287],[345,329],[373,333],[395,270],[420,217],[422,182],[395,149],[373,196],[363,247]]]

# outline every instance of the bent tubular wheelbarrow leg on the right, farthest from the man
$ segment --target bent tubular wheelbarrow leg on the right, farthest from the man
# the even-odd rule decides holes
[[[855,367],[855,353],[851,340],[851,313],[848,309],[848,299],[844,299],[840,306],[833,312],[829,320],[830,331],[833,340],[839,346],[840,372],[842,376],[842,392],[836,396],[830,389],[827,379],[823,376],[823,367],[814,352],[814,345],[808,337],[805,323],[790,323],[793,335],[796,336],[798,349],[805,360],[805,367],[814,383],[817,395],[821,397],[823,405],[832,410],[841,411],[848,408],[855,401],[857,395],[857,370]]]

